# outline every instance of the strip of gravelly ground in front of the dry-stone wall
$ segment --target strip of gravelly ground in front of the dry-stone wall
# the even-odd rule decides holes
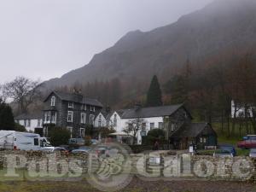
[[[98,192],[86,181],[80,182],[0,182],[1,192]],[[120,192],[255,192],[253,183],[210,181],[155,181],[134,178]]]

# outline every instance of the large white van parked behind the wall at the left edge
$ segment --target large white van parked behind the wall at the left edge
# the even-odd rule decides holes
[[[39,134],[0,131],[0,148],[20,150],[41,150],[41,138]]]

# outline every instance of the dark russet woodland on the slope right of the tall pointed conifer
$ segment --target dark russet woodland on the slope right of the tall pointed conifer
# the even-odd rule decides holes
[[[234,136],[239,129],[244,134],[256,133],[256,65],[253,55],[245,55],[231,65],[209,65],[196,69],[188,63],[180,73],[163,85],[169,103],[185,102],[195,120],[219,122],[221,131]],[[245,109],[244,117],[231,113],[231,101],[235,111]],[[234,118],[231,119],[231,116]]]

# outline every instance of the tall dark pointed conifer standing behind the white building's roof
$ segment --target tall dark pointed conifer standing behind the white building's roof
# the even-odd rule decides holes
[[[160,84],[158,82],[156,75],[154,75],[149,86],[146,105],[148,107],[157,107],[163,105]]]

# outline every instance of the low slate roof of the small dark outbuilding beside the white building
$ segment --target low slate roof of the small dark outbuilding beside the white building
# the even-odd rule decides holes
[[[197,137],[207,127],[207,123],[191,123],[184,125],[172,134],[172,137]],[[212,130],[213,131],[213,130]]]

